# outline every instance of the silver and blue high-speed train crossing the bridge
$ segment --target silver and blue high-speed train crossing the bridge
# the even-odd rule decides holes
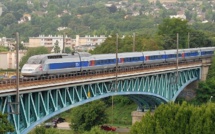
[[[215,47],[190,48],[178,50],[178,61],[188,62],[211,57]],[[177,50],[118,53],[118,67],[138,67],[176,62]],[[116,68],[116,54],[97,54],[77,52],[75,54],[43,54],[28,59],[21,74],[24,77],[41,77],[56,74],[77,73],[81,71],[110,70]]]

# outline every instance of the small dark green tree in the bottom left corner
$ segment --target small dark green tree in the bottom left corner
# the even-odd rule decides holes
[[[10,124],[10,122],[7,120],[7,115],[2,114],[0,112],[0,133],[1,134],[6,134],[7,132],[13,132],[14,128]]]

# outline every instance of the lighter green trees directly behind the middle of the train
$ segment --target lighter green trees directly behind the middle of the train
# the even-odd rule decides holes
[[[93,51],[91,51],[91,53],[116,53],[116,43],[116,35],[108,37],[105,42],[103,42],[100,46],[97,46]],[[153,40],[150,35],[136,35],[135,42],[132,36],[125,36],[124,38],[118,37],[118,52],[132,52],[134,43],[135,51],[150,51],[162,49],[162,47],[159,46],[160,42],[158,42],[158,40]]]

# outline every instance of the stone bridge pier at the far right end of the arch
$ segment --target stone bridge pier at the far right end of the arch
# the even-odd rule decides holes
[[[201,81],[205,81],[208,74],[208,69],[212,63],[212,58],[202,59]]]

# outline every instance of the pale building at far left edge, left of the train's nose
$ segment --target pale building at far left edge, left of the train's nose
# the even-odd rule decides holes
[[[19,62],[25,52],[19,51]],[[0,63],[0,69],[16,69],[16,52],[0,52]]]

